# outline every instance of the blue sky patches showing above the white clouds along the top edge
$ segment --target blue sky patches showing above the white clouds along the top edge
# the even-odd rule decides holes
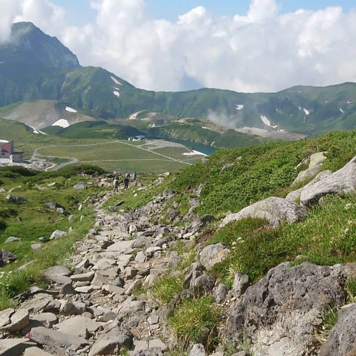
[[[84,25],[92,21],[95,12],[89,7],[89,0],[52,0],[65,7],[73,25]],[[217,16],[245,14],[249,0],[145,0],[149,13],[154,18],[177,20],[178,16],[196,6],[204,6]],[[299,8],[317,10],[327,6],[342,6],[344,10],[356,7],[354,0],[279,0],[282,12],[295,11]]]

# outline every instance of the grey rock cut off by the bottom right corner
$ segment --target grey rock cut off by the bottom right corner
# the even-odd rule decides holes
[[[339,313],[339,320],[331,329],[326,343],[321,347],[319,356],[356,355],[356,305],[347,312]]]

